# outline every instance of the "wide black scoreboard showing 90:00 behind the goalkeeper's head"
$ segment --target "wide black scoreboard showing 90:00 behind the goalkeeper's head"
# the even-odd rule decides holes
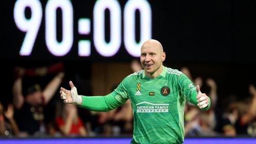
[[[2,60],[130,61],[147,39],[167,62],[256,63],[246,2],[3,1]]]

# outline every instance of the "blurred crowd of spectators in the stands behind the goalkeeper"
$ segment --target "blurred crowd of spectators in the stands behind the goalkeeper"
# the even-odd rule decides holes
[[[132,71],[142,69],[140,62],[130,64]],[[201,111],[190,103],[185,105],[185,136],[251,136],[256,137],[256,88],[248,85],[249,97],[236,99],[228,95],[223,109],[219,102],[218,84],[212,78],[194,78],[187,67],[179,69],[195,85],[207,87],[211,107]],[[0,101],[0,135],[3,137],[29,136],[131,136],[133,113],[130,101],[109,112],[93,112],[73,104],[63,104],[59,99],[60,86],[67,85],[62,63],[36,68],[15,67],[13,69],[12,101]],[[84,81],[76,79],[79,89]],[[112,86],[114,90],[119,82]],[[81,93],[81,92],[80,92]],[[84,93],[81,93],[84,94]],[[106,93],[107,94],[107,93]]]

